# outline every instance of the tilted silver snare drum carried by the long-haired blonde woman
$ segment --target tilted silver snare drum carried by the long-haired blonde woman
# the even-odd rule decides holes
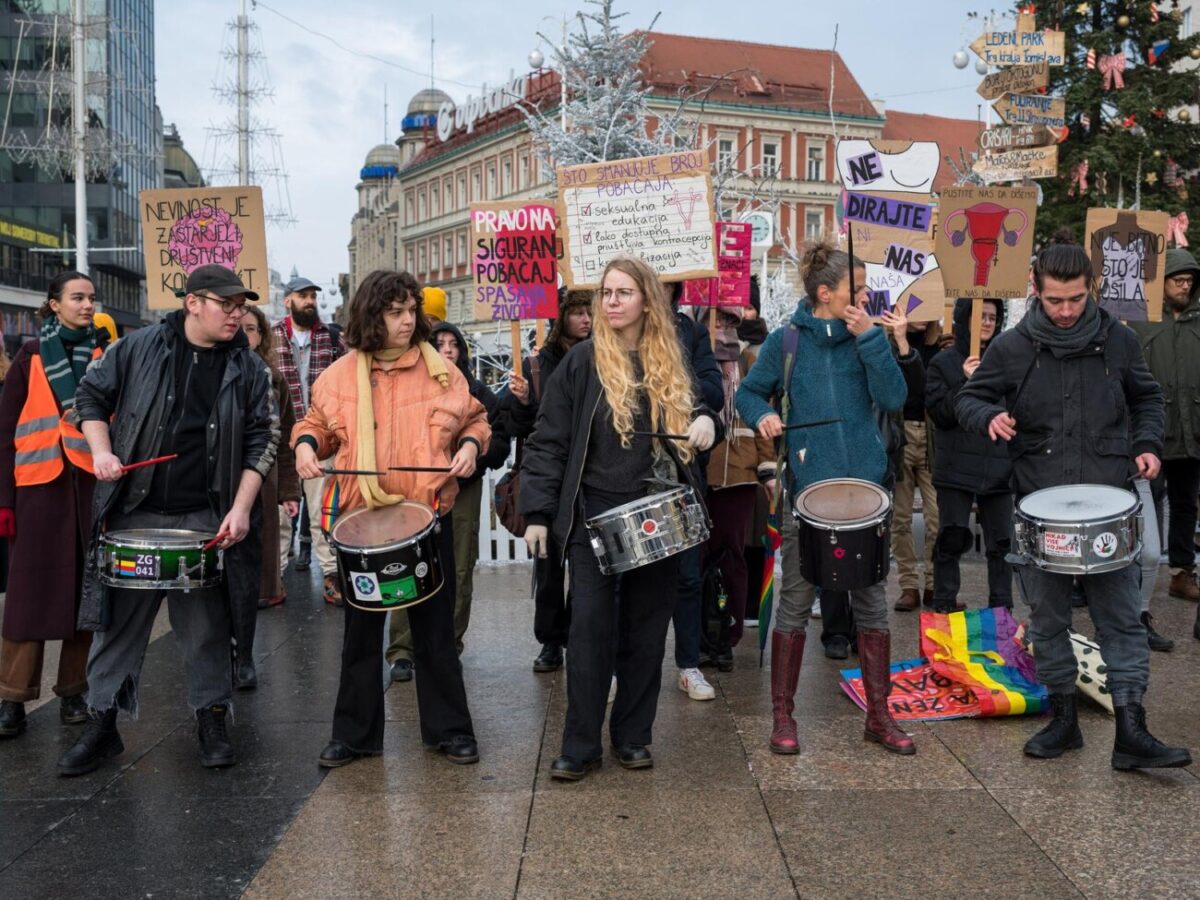
[[[708,515],[688,485],[616,506],[584,524],[605,575],[656,563],[708,540]]]

